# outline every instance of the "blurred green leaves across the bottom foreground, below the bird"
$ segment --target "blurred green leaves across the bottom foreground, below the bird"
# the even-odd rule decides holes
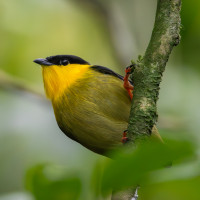
[[[88,176],[88,181],[93,186],[86,188],[88,194],[93,194],[90,197],[79,197],[81,176],[67,176],[65,170],[53,165],[30,169],[26,185],[36,200],[98,200],[109,197],[113,189],[137,185],[141,187],[141,199],[161,199],[163,194],[162,199],[198,199],[200,170],[196,150],[190,139],[172,138],[167,139],[167,145],[149,141],[137,149],[124,148],[113,154],[114,160],[101,161],[91,171],[93,178]],[[173,165],[169,166],[171,162]]]

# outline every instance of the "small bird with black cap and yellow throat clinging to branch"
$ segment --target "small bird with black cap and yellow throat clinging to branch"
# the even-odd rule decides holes
[[[126,142],[133,84],[113,70],[74,55],[38,58],[44,89],[61,131],[89,150],[107,156]],[[154,126],[152,135],[160,138]]]

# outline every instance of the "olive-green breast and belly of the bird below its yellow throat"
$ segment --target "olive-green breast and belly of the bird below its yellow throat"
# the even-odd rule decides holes
[[[121,83],[119,80],[116,87],[101,79],[99,84],[95,80],[95,87],[90,81],[87,87],[66,92],[59,102],[53,103],[60,129],[99,154],[122,145],[131,101]]]

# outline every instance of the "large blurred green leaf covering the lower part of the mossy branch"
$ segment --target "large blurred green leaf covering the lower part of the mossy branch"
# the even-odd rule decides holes
[[[189,141],[169,140],[162,143],[147,142],[128,153],[119,154],[109,162],[103,174],[102,191],[121,190],[141,184],[149,172],[164,168],[173,162],[181,162],[194,155],[193,144]]]

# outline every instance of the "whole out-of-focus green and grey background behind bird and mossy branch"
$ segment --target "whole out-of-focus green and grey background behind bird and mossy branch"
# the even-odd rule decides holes
[[[25,189],[25,174],[34,165],[64,166],[69,173],[79,173],[84,182],[95,163],[105,159],[59,130],[51,105],[44,98],[41,69],[33,60],[72,54],[123,75],[131,59],[137,60],[145,52],[156,2],[0,1],[0,200],[33,199]],[[200,1],[183,0],[182,39],[167,64],[158,102],[161,135],[184,134],[197,145],[199,10]],[[84,187],[87,184],[85,181]]]

